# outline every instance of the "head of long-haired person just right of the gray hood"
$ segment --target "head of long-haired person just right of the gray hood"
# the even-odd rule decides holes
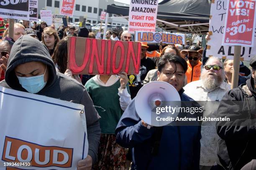
[[[42,33],[42,43],[47,47],[50,55],[54,53],[54,48],[59,41],[59,36],[56,30],[50,27],[44,28]]]

